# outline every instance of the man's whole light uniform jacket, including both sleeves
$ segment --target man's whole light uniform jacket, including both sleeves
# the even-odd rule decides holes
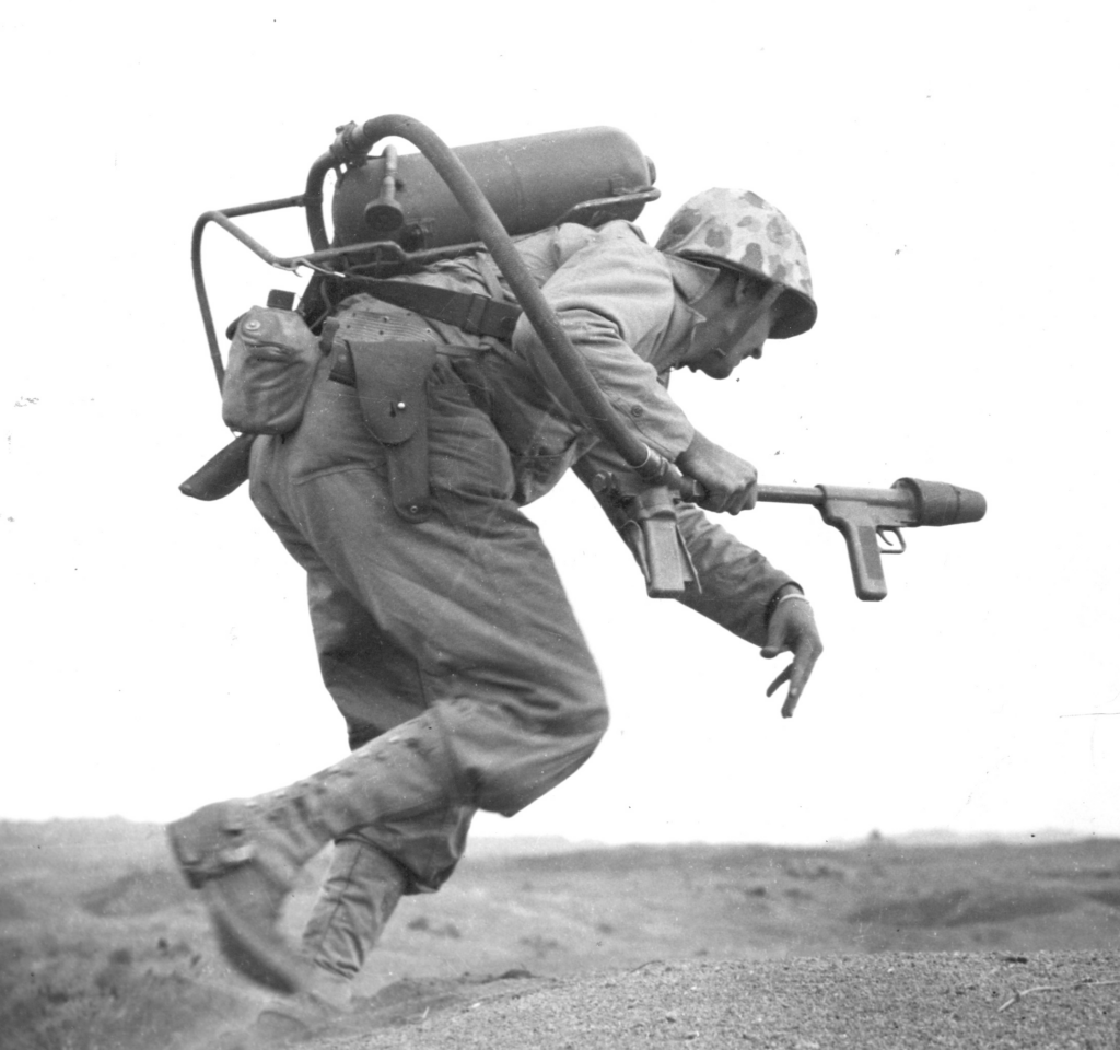
[[[662,254],[622,221],[598,229],[566,224],[521,238],[517,250],[608,400],[648,446],[675,460],[696,430],[670,396],[668,379],[703,320],[693,303],[717,272]],[[486,253],[439,263],[412,280],[515,301]],[[566,392],[542,381],[544,371],[534,363],[547,351],[525,317],[508,344],[435,327],[448,343],[483,351],[476,382],[510,449],[519,503],[540,498],[572,468],[588,485],[599,470],[625,469],[580,424]],[[615,508],[600,503],[617,526]],[[678,528],[700,581],[699,592],[682,602],[762,645],[767,606],[790,576],[690,504],[678,505]]]

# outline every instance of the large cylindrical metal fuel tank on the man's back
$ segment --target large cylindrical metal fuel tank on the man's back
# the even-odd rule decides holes
[[[647,191],[656,178],[637,143],[614,128],[483,142],[455,153],[513,236],[551,226],[585,200]],[[392,240],[418,251],[477,240],[451,191],[420,153],[398,159],[395,199],[403,226],[391,235],[373,228],[366,207],[382,193],[385,166],[384,157],[370,157],[338,179],[332,206],[336,245]],[[606,210],[613,218],[635,219],[644,204],[624,199]]]

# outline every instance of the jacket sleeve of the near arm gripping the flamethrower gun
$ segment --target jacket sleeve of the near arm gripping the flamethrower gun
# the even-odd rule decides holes
[[[642,356],[659,341],[673,309],[669,268],[628,223],[608,223],[595,233],[567,229],[561,227],[556,242],[556,270],[542,285],[544,298],[607,400],[647,444],[675,460],[694,430]],[[564,411],[582,418],[524,317],[513,348],[532,364]]]

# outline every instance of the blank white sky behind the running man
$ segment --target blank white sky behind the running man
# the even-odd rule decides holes
[[[0,817],[170,819],[344,753],[300,571],[245,489],[177,491],[228,437],[189,237],[204,210],[300,193],[337,124],[401,112],[452,146],[624,129],[657,165],[651,241],[709,186],[775,203],[820,321],[740,382],[682,376],[685,410],[763,481],[914,475],[990,508],[909,532],[879,604],[811,508],[725,521],[816,608],[827,651],[783,721],[764,696],[778,664],[647,600],[566,481],[533,515],[613,728],[551,796],[477,831],[1120,834],[1114,7],[411,10],[0,16]],[[307,246],[299,213],[244,225]],[[286,284],[213,227],[205,260],[220,327]]]

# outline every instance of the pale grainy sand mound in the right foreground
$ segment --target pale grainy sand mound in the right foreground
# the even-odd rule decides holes
[[[382,993],[381,1002],[353,1022],[361,1032],[300,1046],[620,1050],[681,1042],[772,1050],[1116,1050],[1120,954],[655,962],[569,979],[401,985]]]

